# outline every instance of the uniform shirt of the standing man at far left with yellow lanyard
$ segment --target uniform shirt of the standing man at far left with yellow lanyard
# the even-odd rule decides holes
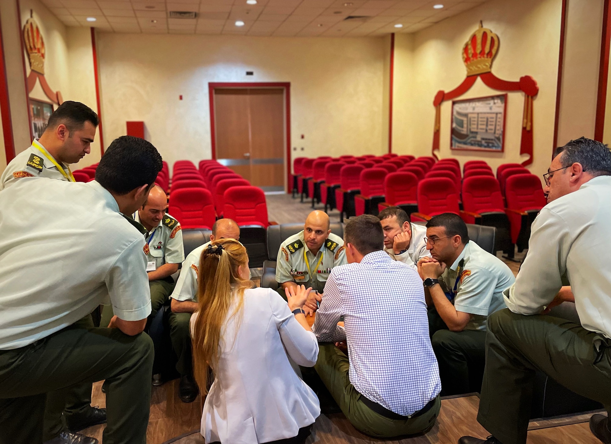
[[[66,174],[63,175],[55,164],[46,158],[34,144],[38,145],[49,157],[53,158],[49,151],[38,142],[38,139],[35,140],[31,147],[21,151],[6,166],[6,169],[0,175],[0,190],[10,186],[22,177],[48,177],[49,179],[72,181],[71,179],[68,180],[68,178],[71,178],[71,172],[67,164],[59,164],[58,162]]]

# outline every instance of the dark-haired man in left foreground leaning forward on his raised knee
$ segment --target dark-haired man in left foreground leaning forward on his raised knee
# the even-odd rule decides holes
[[[122,214],[142,206],[161,167],[153,145],[123,136],[96,181],[23,178],[0,192],[0,444],[42,443],[46,393],[104,379],[104,442],[145,444],[146,242]],[[108,299],[112,328],[75,325]]]

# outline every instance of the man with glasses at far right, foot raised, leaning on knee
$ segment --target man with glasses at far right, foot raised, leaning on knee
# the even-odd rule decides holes
[[[536,369],[611,414],[610,175],[611,153],[601,142],[581,137],[556,151],[544,175],[547,205],[505,291],[508,309],[488,319],[477,421],[492,436],[459,443],[525,443]],[[560,291],[564,275],[572,291]],[[575,302],[581,324],[542,314],[565,300]],[[606,415],[593,415],[590,431],[611,443]]]

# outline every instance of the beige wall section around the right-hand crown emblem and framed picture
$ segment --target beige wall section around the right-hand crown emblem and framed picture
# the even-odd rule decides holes
[[[533,106],[534,155],[529,168],[536,174],[547,170],[554,137],[561,7],[560,0],[490,0],[413,35],[397,35],[393,151],[430,155],[435,116],[433,98],[438,90],[448,92],[463,82],[466,68],[461,49],[483,20],[484,26],[500,38],[492,72],[508,81],[530,75],[538,82],[540,91]],[[459,98],[495,93],[500,92],[478,79]],[[461,164],[484,158],[493,169],[502,163],[521,162],[523,107],[524,93],[508,93],[504,153],[466,151],[457,154],[450,151],[452,101],[445,101],[441,106],[439,156],[453,156]]]

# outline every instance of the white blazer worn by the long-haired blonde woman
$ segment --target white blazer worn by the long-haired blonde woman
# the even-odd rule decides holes
[[[196,316],[191,316],[191,329]],[[225,324],[221,335],[221,355],[203,405],[201,433],[206,443],[222,444],[294,437],[300,428],[314,423],[320,404],[288,356],[311,367],[318,357],[318,341],[269,288],[244,291],[237,332],[236,318]]]

